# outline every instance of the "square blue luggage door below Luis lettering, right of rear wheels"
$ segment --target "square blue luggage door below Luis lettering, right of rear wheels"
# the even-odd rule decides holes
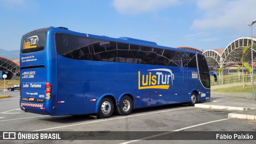
[[[142,107],[158,105],[158,88],[149,88],[141,90]]]

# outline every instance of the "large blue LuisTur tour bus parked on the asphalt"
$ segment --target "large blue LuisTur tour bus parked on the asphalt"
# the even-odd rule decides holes
[[[22,37],[20,82],[20,108],[51,116],[108,118],[114,110],[128,115],[134,108],[210,99],[201,53],[64,27]]]

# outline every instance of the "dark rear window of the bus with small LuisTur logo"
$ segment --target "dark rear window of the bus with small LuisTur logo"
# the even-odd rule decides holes
[[[24,35],[20,44],[21,53],[26,54],[44,50],[46,45],[46,35],[47,32],[45,30],[38,30]]]

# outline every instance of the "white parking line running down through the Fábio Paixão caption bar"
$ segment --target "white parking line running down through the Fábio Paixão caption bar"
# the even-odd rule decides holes
[[[204,125],[204,124],[210,124],[210,123],[213,123],[213,122],[220,122],[220,121],[223,121],[223,120],[230,120],[230,119],[229,119],[229,118],[224,118],[224,119],[221,119],[221,120],[214,120],[214,121],[210,121],[210,122],[204,122],[204,123],[202,123],[202,124],[196,124],[196,125],[194,125],[194,126],[188,126],[188,127],[186,127],[186,128],[180,128],[180,129],[178,129],[178,130],[173,130],[173,131],[170,131],[170,132],[164,132],[164,133],[162,133],[162,134],[156,134],[156,135],[153,135],[153,136],[148,136],[148,137],[145,137],[145,138],[140,138],[140,139],[138,139],[138,140],[131,140],[131,141],[128,141],[128,142],[122,142],[122,143],[120,143],[120,144],[129,144],[129,143],[132,143],[132,142],[138,142],[138,141],[140,141],[140,140],[146,140],[146,139],[149,139],[149,138],[154,138],[154,137],[162,136],[162,135],[165,135],[165,134],[170,134],[170,133],[172,133],[172,132],[178,132],[178,131],[181,131],[181,130],[186,130],[186,129],[188,129],[188,128],[194,128],[194,127],[196,127],[196,126],[202,126],[202,125]]]

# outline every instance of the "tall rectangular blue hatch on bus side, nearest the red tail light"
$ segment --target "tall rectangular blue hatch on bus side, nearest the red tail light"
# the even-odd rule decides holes
[[[66,81],[66,114],[82,114],[84,98],[84,81]]]

